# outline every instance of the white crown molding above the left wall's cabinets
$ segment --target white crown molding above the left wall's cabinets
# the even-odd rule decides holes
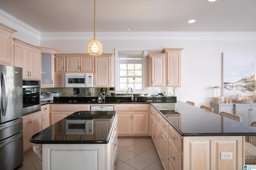
[[[0,22],[12,29],[17,30],[18,32],[23,32],[31,37],[34,37],[38,40],[41,38],[41,32],[37,29],[34,29],[30,25],[18,20],[14,16],[11,16],[7,12],[4,12],[0,9]]]

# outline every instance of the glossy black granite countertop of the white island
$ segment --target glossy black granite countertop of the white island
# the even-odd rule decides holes
[[[89,144],[89,143],[98,143],[98,144],[104,144],[108,143],[110,139],[110,135],[112,133],[114,122],[117,119],[117,111],[77,111],[68,117],[54,123],[53,125],[47,127],[46,129],[36,133],[32,137],[30,137],[31,143],[38,143],[38,144]],[[68,120],[68,121],[67,121]],[[71,121],[70,121],[71,120]],[[84,126],[81,121],[89,120],[93,121],[85,125],[85,127],[82,127],[84,129],[88,128],[89,130],[92,130],[89,132],[89,134],[83,134],[81,131],[67,131],[66,124],[67,122],[71,124],[70,129],[74,129],[77,127]],[[94,123],[96,120],[101,121],[110,121],[111,127],[110,130],[106,133],[102,133],[103,131],[106,131],[108,127],[102,127],[99,126],[97,129],[94,127]],[[78,128],[78,129],[79,129]],[[101,129],[104,128],[104,129]],[[101,133],[101,139],[96,139],[94,136],[97,132]],[[61,137],[61,139],[60,139]],[[63,137],[65,140],[63,141]],[[68,137],[72,140],[68,140]],[[86,140],[74,140],[76,139],[82,139],[82,137],[86,137]],[[90,138],[91,139],[88,139]]]

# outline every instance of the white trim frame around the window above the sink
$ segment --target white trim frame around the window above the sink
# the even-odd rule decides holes
[[[144,90],[133,90],[133,93],[134,94],[146,94],[147,93],[147,83],[146,83],[146,80],[147,80],[147,62],[146,62],[146,57],[147,57],[147,49],[115,49],[115,60],[116,60],[116,65],[115,65],[115,69],[116,69],[116,72],[115,72],[115,93],[116,94],[126,94],[127,92],[127,89],[126,90],[120,90],[119,89],[119,71],[118,71],[118,51],[143,51],[144,53],[144,56],[143,56],[143,70],[142,70],[142,75],[143,75],[143,83],[142,83],[142,88]]]

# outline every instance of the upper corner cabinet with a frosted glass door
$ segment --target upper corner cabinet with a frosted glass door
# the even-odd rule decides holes
[[[61,53],[58,49],[39,47],[41,49],[41,87],[54,87],[54,54]]]

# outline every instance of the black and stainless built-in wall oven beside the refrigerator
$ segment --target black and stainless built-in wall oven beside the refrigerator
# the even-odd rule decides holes
[[[23,80],[23,115],[41,110],[40,80]]]

